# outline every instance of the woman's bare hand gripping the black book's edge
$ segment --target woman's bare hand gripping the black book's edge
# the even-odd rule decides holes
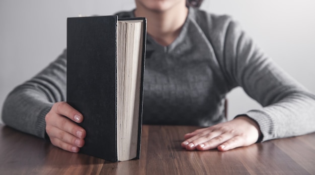
[[[70,152],[78,152],[84,145],[86,131],[74,123],[82,122],[83,116],[68,103],[55,103],[45,121],[46,132],[53,145]]]

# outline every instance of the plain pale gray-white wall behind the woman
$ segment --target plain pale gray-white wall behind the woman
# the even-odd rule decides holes
[[[313,7],[312,0],[205,0],[202,9],[233,16],[284,70],[315,92]],[[1,0],[0,111],[15,86],[34,76],[66,47],[67,17],[111,15],[133,8],[133,0]],[[240,88],[228,95],[228,101],[230,118],[259,107]]]

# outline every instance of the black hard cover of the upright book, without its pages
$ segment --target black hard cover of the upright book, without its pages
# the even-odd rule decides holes
[[[145,62],[145,18],[118,19],[117,16],[67,19],[67,102],[80,111],[87,131],[80,152],[110,161],[117,157],[117,24],[141,20],[140,86],[138,101],[137,152],[140,155],[143,75]]]

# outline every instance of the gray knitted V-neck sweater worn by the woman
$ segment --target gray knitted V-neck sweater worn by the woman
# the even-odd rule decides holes
[[[133,11],[118,15],[134,16]],[[259,124],[262,141],[315,131],[315,96],[269,59],[230,17],[190,8],[171,45],[161,46],[147,36],[144,124],[222,122],[225,96],[238,86],[263,106],[242,114]],[[65,100],[66,50],[8,95],[3,121],[44,137],[45,115],[53,103]]]

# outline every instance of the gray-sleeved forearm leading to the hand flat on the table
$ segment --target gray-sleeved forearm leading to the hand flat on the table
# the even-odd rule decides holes
[[[259,110],[246,113],[257,121],[262,141],[315,131],[315,99],[307,93],[291,94]]]

